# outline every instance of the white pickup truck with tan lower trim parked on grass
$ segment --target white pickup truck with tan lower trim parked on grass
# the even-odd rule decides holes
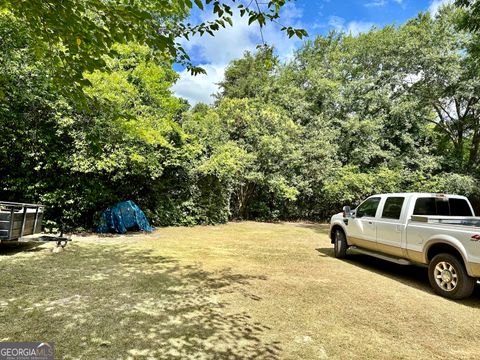
[[[437,294],[462,299],[480,278],[480,217],[464,196],[373,195],[332,216],[334,254],[360,252],[402,265],[428,265]]]

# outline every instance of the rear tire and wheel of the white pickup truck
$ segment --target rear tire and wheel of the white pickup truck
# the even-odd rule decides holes
[[[430,261],[428,279],[438,295],[455,300],[472,295],[477,282],[468,276],[463,261],[448,253],[438,254]]]

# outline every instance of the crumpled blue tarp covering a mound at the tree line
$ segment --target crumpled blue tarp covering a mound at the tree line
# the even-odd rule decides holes
[[[142,230],[152,232],[153,227],[143,211],[133,201],[122,201],[110,206],[102,213],[102,220],[97,232],[116,232],[125,234],[127,230]]]

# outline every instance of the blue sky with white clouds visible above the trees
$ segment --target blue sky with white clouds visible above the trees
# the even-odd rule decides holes
[[[451,0],[297,0],[282,9],[281,23],[306,29],[310,38],[325,35],[331,30],[353,35],[366,32],[373,26],[402,24],[420,11],[435,14],[438,8]],[[208,12],[196,11],[192,23],[208,20]],[[281,59],[287,61],[303,40],[288,39],[276,24],[263,31],[266,42],[275,46]],[[197,102],[212,103],[212,93],[218,91],[216,83],[222,80],[225,67],[247,50],[255,51],[261,43],[258,26],[248,26],[245,19],[234,17],[234,26],[218,31],[214,37],[193,37],[182,40],[184,48],[196,65],[207,75],[191,76],[179,66],[175,69],[180,79],[173,87],[177,96],[186,98],[192,105]]]

